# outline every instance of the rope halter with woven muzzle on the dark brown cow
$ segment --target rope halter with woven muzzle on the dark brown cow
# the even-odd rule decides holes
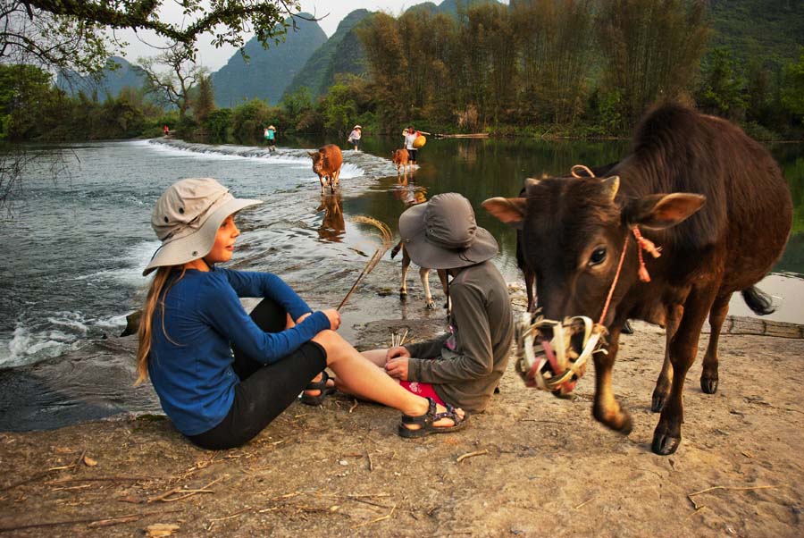
[[[586,175],[579,175],[577,171],[585,172]],[[571,173],[575,178],[595,177],[595,174],[582,164],[575,164]],[[661,248],[643,238],[637,226],[632,226],[631,232],[637,241],[640,280],[650,282],[642,250],[656,258],[661,256]],[[595,353],[607,353],[604,347],[607,343],[604,338],[607,329],[603,322],[606,320],[608,307],[623,269],[630,236],[631,233],[625,236],[615,277],[608,290],[598,323],[583,315],[566,317],[563,322],[558,322],[546,319],[537,310],[535,314],[523,313],[515,324],[516,371],[527,386],[551,391],[557,396],[565,396],[574,390],[575,382],[586,373],[589,358]]]

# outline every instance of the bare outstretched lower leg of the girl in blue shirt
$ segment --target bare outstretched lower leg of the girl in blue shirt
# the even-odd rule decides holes
[[[389,408],[398,409],[408,416],[421,416],[427,412],[430,406],[427,399],[400,387],[384,370],[362,356],[337,332],[319,332],[313,341],[318,342],[327,350],[327,366],[338,376],[336,385],[339,388]],[[438,412],[444,410],[439,406]],[[464,416],[462,409],[456,409],[456,412],[458,416]],[[434,425],[450,426],[452,424],[451,420],[444,418]]]

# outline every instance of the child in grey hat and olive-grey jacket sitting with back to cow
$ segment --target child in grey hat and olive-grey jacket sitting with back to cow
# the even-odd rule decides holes
[[[451,331],[364,355],[406,390],[480,413],[506,371],[514,340],[507,284],[490,261],[497,241],[475,223],[469,200],[456,192],[407,209],[399,235],[416,265],[446,269],[452,277]]]

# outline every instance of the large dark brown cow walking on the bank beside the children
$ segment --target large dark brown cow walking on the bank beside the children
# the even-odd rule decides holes
[[[700,386],[712,394],[732,293],[741,291],[757,314],[773,311],[754,284],[782,255],[791,229],[790,191],[774,159],[742,130],[676,105],[641,121],[631,155],[609,174],[528,180],[526,197],[491,198],[483,206],[521,226],[539,305],[550,319],[599,319],[624,252],[602,320],[607,354],[594,355],[593,413],[608,427],[631,432],[631,416],[611,384],[620,330],[628,318],[666,326],[665,365],[652,401],[661,417],[651,449],[672,454],[681,442],[684,378],[707,316],[711,334]],[[639,230],[662,248],[657,259],[647,257],[649,275],[640,269],[637,241],[628,240]]]

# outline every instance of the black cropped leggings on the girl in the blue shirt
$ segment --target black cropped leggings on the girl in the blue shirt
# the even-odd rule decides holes
[[[263,299],[251,317],[264,331],[280,332],[285,327],[285,310],[270,298]],[[326,350],[312,340],[271,365],[263,365],[236,347],[232,349],[232,367],[241,381],[235,386],[229,413],[213,429],[188,436],[203,449],[231,449],[251,441],[327,366]]]

